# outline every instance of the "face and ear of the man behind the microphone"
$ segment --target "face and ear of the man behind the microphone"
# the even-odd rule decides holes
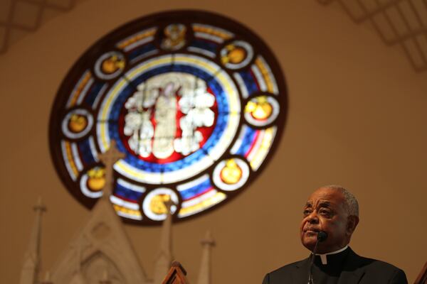
[[[317,253],[330,253],[347,246],[359,223],[359,217],[349,214],[344,195],[329,187],[320,187],[310,195],[303,214],[300,238],[307,249],[315,248],[318,231],[327,232],[327,239],[317,245]]]

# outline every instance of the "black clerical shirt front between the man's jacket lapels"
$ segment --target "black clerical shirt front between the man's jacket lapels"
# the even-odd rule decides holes
[[[341,251],[339,253],[327,254],[326,256],[323,256],[323,261],[319,255],[316,255],[312,268],[313,283],[338,283],[339,275],[341,275],[345,258],[347,258],[348,254],[349,248],[347,247],[347,249],[344,249],[344,251]]]

